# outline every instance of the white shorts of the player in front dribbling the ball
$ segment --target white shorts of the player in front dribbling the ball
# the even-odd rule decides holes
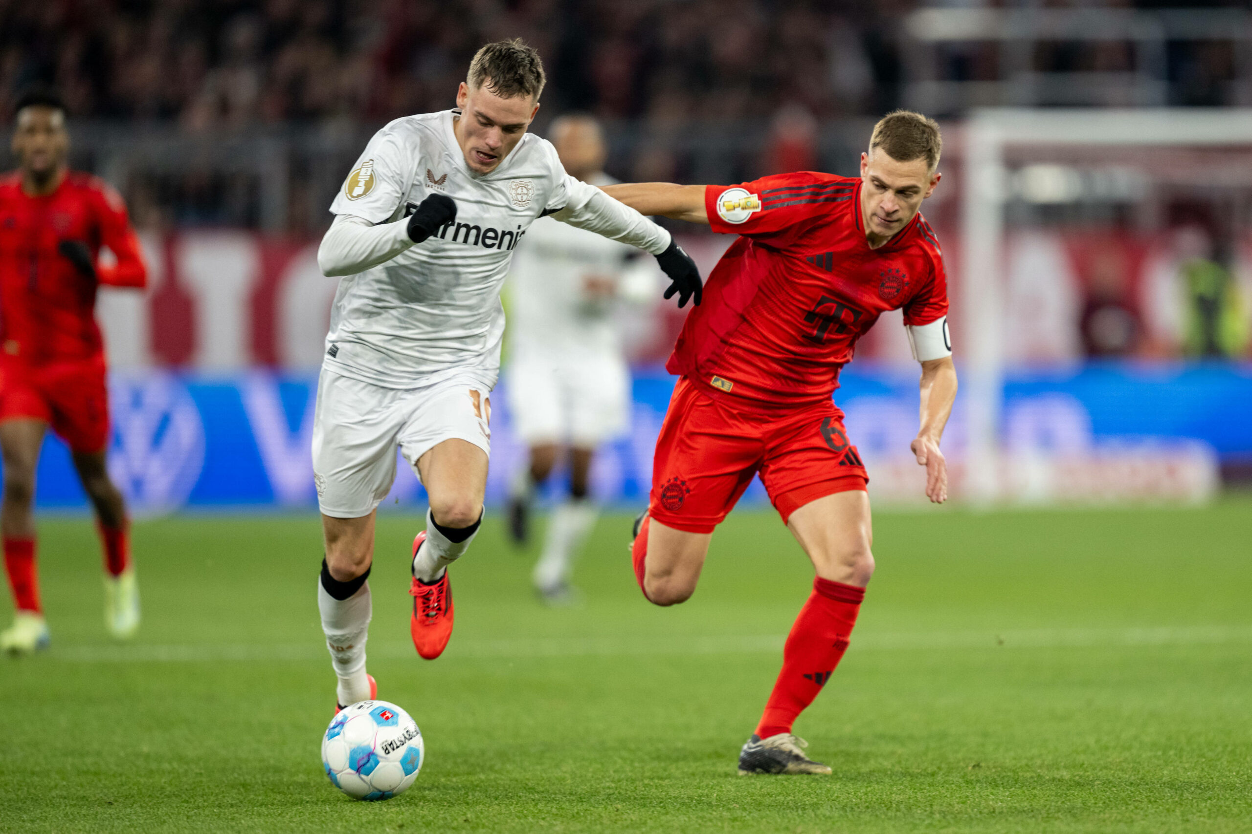
[[[491,400],[467,376],[424,388],[382,388],[322,369],[313,415],[313,480],[324,515],[369,515],[396,480],[396,446],[417,461],[459,439],[491,455]]]

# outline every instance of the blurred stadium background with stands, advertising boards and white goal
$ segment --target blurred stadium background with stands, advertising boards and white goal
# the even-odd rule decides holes
[[[597,114],[625,180],[854,175],[881,114],[943,121],[944,181],[924,211],[963,374],[945,438],[958,498],[1202,501],[1252,478],[1244,4],[86,5],[0,3],[0,110],[55,84],[74,165],[121,190],[144,239],[151,288],[99,305],[111,466],[140,513],[313,506],[327,206],[373,130],[452,106],[473,51],[510,36],[546,61],[535,129]],[[730,243],[676,228],[705,273]],[[681,320],[659,303],[630,323],[635,428],[595,476],[610,503],[646,494]],[[878,498],[920,499],[898,315],[861,341],[836,399]],[[505,405],[492,500],[522,453]],[[394,491],[421,500],[403,470]],[[38,500],[84,504],[55,440]]]

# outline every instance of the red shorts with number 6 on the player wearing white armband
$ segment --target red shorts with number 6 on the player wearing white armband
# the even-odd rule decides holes
[[[665,526],[712,533],[757,473],[784,524],[810,501],[869,483],[833,401],[754,413],[681,378],[656,440],[647,514]]]

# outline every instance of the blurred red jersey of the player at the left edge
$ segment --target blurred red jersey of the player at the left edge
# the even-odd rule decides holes
[[[58,248],[86,244],[96,279]],[[115,266],[98,261],[100,248]],[[95,323],[99,284],[141,288],[148,270],[121,196],[104,180],[69,173],[55,191],[30,196],[21,175],[0,179],[0,356],[41,365],[104,356]]]

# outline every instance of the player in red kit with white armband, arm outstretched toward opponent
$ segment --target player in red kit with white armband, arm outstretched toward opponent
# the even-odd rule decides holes
[[[874,573],[868,476],[831,401],[856,339],[904,309],[921,363],[913,453],[947,499],[939,438],[957,373],[939,244],[918,213],[939,184],[938,125],[896,111],[874,128],[859,179],[801,173],[735,186],[647,183],[605,190],[649,215],[739,234],[682,328],[680,374],[656,445],[632,556],[657,605],[695,591],[714,528],[754,475],[816,569],[782,670],[739,771],[830,773],[791,725],[838,665]],[[697,299],[699,301],[700,299]]]

